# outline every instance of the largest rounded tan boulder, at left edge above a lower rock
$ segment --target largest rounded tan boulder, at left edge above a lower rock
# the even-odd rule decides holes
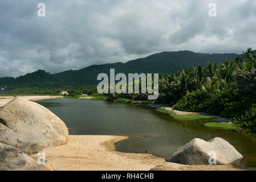
[[[0,142],[20,148],[36,142],[43,148],[66,144],[64,122],[35,102],[17,97],[0,109]]]

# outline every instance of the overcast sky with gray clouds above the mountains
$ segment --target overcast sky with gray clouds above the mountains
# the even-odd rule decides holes
[[[255,0],[1,0],[0,77],[162,51],[241,53],[256,49],[255,22]]]

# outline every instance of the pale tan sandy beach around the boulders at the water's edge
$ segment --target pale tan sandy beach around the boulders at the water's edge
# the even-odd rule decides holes
[[[28,100],[60,98],[59,96],[24,96]],[[0,106],[13,97],[0,97]],[[233,165],[187,166],[167,163],[164,158],[152,154],[131,154],[118,152],[115,143],[127,139],[125,136],[69,135],[67,144],[46,148],[46,167],[51,170],[103,170],[103,171],[147,171],[156,166],[165,170],[241,170]],[[38,155],[32,155],[36,160]]]

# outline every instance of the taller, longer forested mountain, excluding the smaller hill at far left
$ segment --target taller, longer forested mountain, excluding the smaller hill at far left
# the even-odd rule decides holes
[[[208,61],[217,63],[234,59],[235,53],[208,54],[191,51],[161,52],[148,57],[128,61],[127,63],[113,63],[92,65],[78,71],[65,71],[54,76],[68,84],[95,84],[99,73],[108,73],[115,68],[116,73],[174,73],[184,68],[193,68],[197,65],[206,65]]]

